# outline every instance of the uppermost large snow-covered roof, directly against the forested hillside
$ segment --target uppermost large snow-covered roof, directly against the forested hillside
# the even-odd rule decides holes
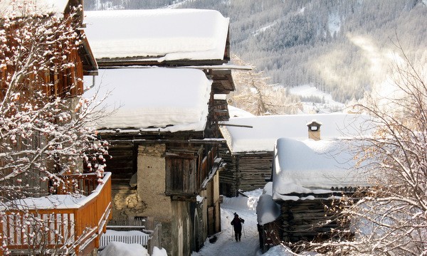
[[[228,18],[203,9],[86,11],[95,58],[223,60]]]

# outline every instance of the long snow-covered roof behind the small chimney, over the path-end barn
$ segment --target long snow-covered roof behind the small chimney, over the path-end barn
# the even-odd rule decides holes
[[[249,126],[223,126],[221,133],[232,154],[257,151],[273,151],[276,139],[288,137],[308,138],[307,123],[316,120],[322,123],[322,139],[339,138],[369,132],[370,118],[362,114],[288,114],[261,117],[231,117],[225,124]]]

